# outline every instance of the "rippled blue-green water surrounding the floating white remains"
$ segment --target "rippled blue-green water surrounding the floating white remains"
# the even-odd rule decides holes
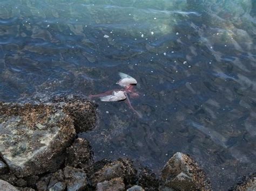
[[[107,35],[109,38],[104,38]],[[214,189],[255,171],[256,1],[2,0],[0,101],[119,88],[99,104],[96,159],[129,157],[159,173],[175,152],[192,155]]]

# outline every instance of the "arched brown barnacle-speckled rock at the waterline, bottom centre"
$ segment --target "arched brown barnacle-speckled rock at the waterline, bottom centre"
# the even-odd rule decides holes
[[[127,186],[134,185],[136,182],[136,169],[133,167],[129,159],[118,159],[103,166],[92,175],[92,185],[96,186],[97,183],[108,181],[114,178],[122,178]]]

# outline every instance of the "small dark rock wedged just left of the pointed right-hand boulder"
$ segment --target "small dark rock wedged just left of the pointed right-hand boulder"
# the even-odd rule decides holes
[[[159,187],[159,180],[149,168],[143,168],[139,173],[139,186],[146,190],[157,190]]]

